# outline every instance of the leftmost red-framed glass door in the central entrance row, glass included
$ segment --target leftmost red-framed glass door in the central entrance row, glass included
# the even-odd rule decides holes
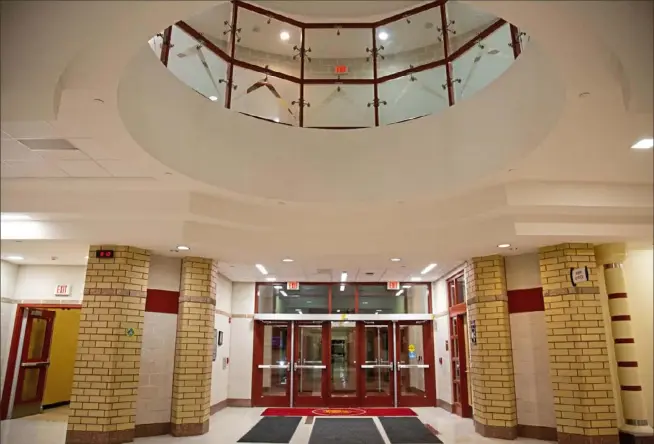
[[[252,404],[288,407],[291,395],[291,324],[263,323],[254,326]]]

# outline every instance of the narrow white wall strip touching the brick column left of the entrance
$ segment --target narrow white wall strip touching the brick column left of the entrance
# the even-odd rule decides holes
[[[229,313],[231,311],[232,281],[222,275],[218,275],[214,325],[217,331],[223,332],[223,345],[218,346],[216,360],[211,367],[211,405],[224,401],[228,398],[229,394],[228,387],[231,363],[224,365],[224,360],[230,357],[232,324],[230,323]]]

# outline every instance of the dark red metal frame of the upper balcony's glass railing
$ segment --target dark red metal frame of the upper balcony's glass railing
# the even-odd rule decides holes
[[[430,3],[426,3],[423,5],[420,5],[416,8],[409,9],[407,11],[404,11],[399,14],[395,14],[393,16],[387,17],[385,19],[378,20],[376,22],[371,22],[371,23],[304,23],[300,22],[298,20],[295,20],[291,17],[287,17],[285,15],[269,11],[267,9],[264,9],[260,6],[253,5],[251,3],[246,3],[243,0],[232,0],[232,20],[230,23],[230,52],[227,54],[225,51],[220,49],[217,45],[212,43],[209,39],[207,39],[204,35],[202,35],[200,32],[198,32],[196,29],[191,27],[188,23],[184,21],[179,21],[176,23],[176,26],[178,26],[182,31],[186,32],[189,36],[197,40],[199,43],[201,43],[205,48],[207,48],[209,51],[213,52],[216,56],[220,57],[223,59],[225,62],[227,62],[227,78],[225,80],[226,84],[226,91],[225,91],[225,108],[231,108],[231,99],[232,99],[232,86],[234,85],[234,66],[238,66],[240,68],[260,72],[262,74],[267,74],[273,77],[277,77],[289,82],[296,83],[300,86],[300,97],[299,97],[299,124],[300,127],[304,127],[304,107],[305,107],[305,102],[304,102],[304,97],[305,97],[305,91],[304,87],[306,85],[335,85],[335,84],[342,84],[342,85],[373,85],[373,107],[374,107],[374,112],[375,112],[375,126],[379,126],[379,106],[380,106],[380,98],[379,98],[379,88],[378,85],[380,83],[388,82],[389,80],[394,80],[398,79],[400,77],[404,77],[410,74],[415,74],[419,73],[422,71],[426,71],[428,69],[433,69],[437,68],[439,66],[445,66],[445,73],[446,73],[446,89],[447,89],[447,97],[448,97],[448,102],[449,106],[453,106],[455,104],[455,91],[454,91],[454,78],[453,78],[453,73],[452,73],[452,63],[454,60],[465,54],[470,48],[472,48],[474,45],[479,43],[481,40],[484,38],[488,37],[491,35],[493,32],[498,30],[500,27],[502,27],[504,24],[506,24],[506,21],[504,19],[498,19],[495,22],[493,22],[490,26],[485,28],[483,31],[481,31],[479,34],[474,36],[472,39],[467,41],[465,44],[461,45],[457,50],[455,51],[450,51],[450,39],[449,35],[447,32],[447,25],[448,25],[448,18],[447,18],[447,7],[446,7],[447,0],[434,0]],[[415,14],[419,14],[424,11],[428,11],[433,8],[440,8],[441,11],[441,28],[443,29],[443,52],[445,57],[440,60],[434,60],[429,63],[425,63],[419,66],[414,66],[402,71],[397,71],[392,74],[387,74],[385,76],[378,76],[378,70],[377,70],[377,39],[376,39],[376,30],[384,25],[387,25],[389,23],[396,22],[398,20],[403,20],[406,19],[407,17],[410,17]],[[295,77],[290,74],[285,74],[280,71],[275,71],[271,69],[266,69],[265,67],[254,65],[249,62],[245,62],[243,60],[238,60],[236,58],[236,29],[237,29],[237,23],[238,23],[238,10],[239,9],[245,9],[260,15],[263,15],[268,18],[273,18],[275,20],[279,20],[284,23],[288,23],[289,25],[295,26],[297,28],[300,28],[300,31],[302,33],[302,42],[301,42],[301,51],[300,51],[300,77]],[[371,54],[371,59],[372,59],[372,66],[373,66],[373,78],[372,79],[307,79],[305,78],[305,57],[304,57],[304,51],[305,51],[305,35],[306,35],[306,30],[307,29],[371,29],[372,32],[372,54]],[[518,58],[520,53],[522,52],[522,42],[520,40],[520,31],[519,29],[511,25],[510,27],[510,33],[511,33],[511,47],[513,48],[513,56],[514,58]],[[171,48],[171,35],[172,35],[172,26],[166,28],[166,30],[163,33],[163,43],[161,46],[161,55],[160,59],[161,62],[167,66],[168,64],[168,56],[170,53],[170,48]],[[249,114],[247,114],[249,115]],[[419,116],[423,117],[423,116]],[[270,119],[266,119],[265,117],[258,117],[262,120],[266,120],[269,122],[273,122]],[[410,121],[414,120],[415,118],[409,118],[404,121]],[[401,122],[395,122],[395,123],[401,123]],[[337,128],[331,128],[331,127],[320,127],[323,129],[348,129],[349,127],[337,127]],[[354,128],[354,127],[352,127]]]

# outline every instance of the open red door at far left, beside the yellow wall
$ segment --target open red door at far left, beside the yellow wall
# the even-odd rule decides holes
[[[10,418],[21,418],[41,412],[45,376],[50,365],[55,313],[40,309],[25,310],[27,317],[23,317],[24,327],[21,328],[18,377],[15,385],[12,384],[13,408],[10,399]]]

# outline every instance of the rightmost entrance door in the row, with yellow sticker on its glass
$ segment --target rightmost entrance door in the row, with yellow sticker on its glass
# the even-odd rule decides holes
[[[398,406],[436,405],[431,322],[397,323]]]

